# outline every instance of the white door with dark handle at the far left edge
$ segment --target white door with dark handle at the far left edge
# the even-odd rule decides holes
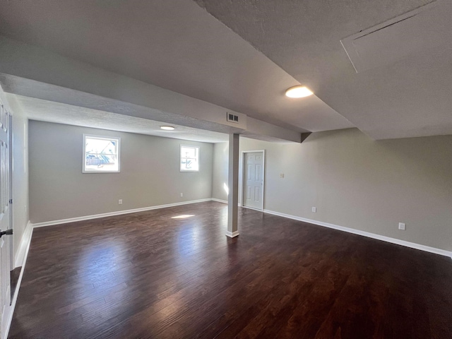
[[[6,231],[11,228],[10,218],[10,153],[8,150],[9,119],[11,116],[0,102],[0,230]],[[6,338],[6,325],[11,301],[10,285],[10,243],[11,237],[3,235],[0,238],[0,338]]]

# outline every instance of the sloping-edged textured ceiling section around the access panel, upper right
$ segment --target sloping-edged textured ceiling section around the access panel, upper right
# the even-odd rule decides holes
[[[452,1],[423,27],[446,36],[430,35],[436,47],[358,74],[340,40],[432,1],[196,2],[370,136],[452,133]]]

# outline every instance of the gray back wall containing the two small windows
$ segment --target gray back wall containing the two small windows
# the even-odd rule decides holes
[[[82,173],[83,133],[121,137],[120,173]],[[179,172],[181,144],[200,147],[200,172]],[[210,143],[30,121],[29,157],[32,223],[212,196]]]

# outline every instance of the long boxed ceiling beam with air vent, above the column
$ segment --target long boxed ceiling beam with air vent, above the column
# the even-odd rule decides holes
[[[246,114],[105,71],[0,35],[0,81],[8,93],[223,133],[247,129]],[[226,121],[227,112],[239,122]],[[300,133],[253,120],[251,132],[300,142]]]

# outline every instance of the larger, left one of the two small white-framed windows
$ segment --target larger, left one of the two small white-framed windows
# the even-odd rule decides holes
[[[121,138],[83,134],[83,173],[119,172]]]

